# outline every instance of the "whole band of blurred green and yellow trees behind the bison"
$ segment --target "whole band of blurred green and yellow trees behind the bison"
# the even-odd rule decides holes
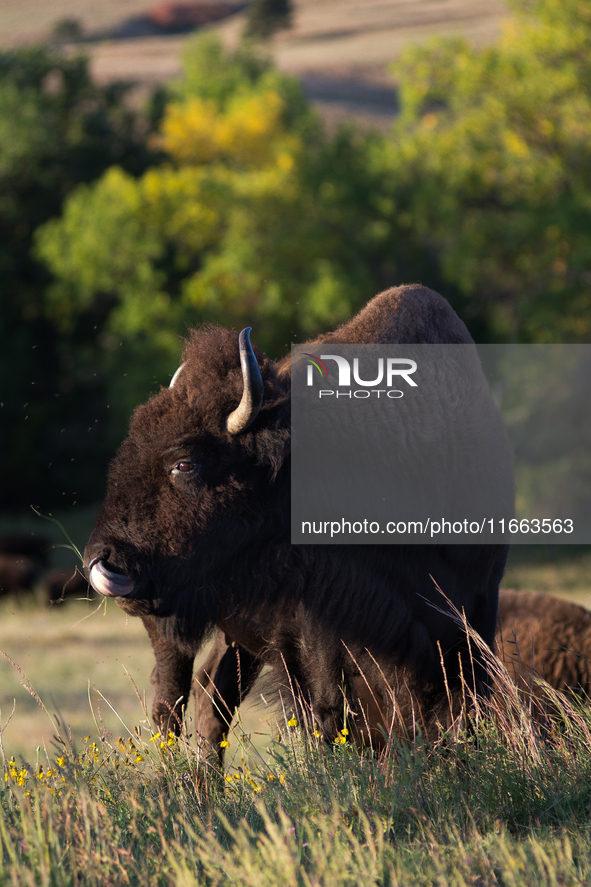
[[[0,55],[7,501],[96,495],[192,324],[277,356],[420,281],[479,341],[589,341],[591,10],[513,6],[494,46],[403,53],[387,135],[325,131],[295,78],[211,35],[133,112],[81,59]]]

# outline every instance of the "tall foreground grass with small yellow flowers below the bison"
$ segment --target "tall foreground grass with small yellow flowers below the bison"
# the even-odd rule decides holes
[[[591,883],[591,714],[489,659],[463,729],[388,754],[289,709],[267,758],[238,722],[223,774],[147,721],[78,749],[64,730],[34,765],[5,759],[0,884]]]

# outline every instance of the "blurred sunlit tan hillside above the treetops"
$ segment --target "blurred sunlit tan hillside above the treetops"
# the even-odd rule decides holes
[[[216,2],[216,0],[210,0]],[[76,18],[100,80],[132,79],[146,86],[180,72],[186,35],[111,37],[150,9],[150,0],[3,0],[0,45],[48,39],[56,21]],[[270,49],[279,67],[302,77],[306,92],[329,123],[354,116],[389,125],[396,97],[388,63],[402,46],[435,35],[464,34],[473,43],[493,41],[507,16],[503,0],[295,0],[294,27]],[[235,45],[244,12],[213,25]]]

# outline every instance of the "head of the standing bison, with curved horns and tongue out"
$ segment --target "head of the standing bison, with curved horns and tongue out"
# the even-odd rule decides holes
[[[260,548],[289,538],[289,380],[250,330],[194,330],[169,388],[135,411],[85,550],[88,577],[134,615],[203,631]],[[228,597],[228,594],[230,595]]]

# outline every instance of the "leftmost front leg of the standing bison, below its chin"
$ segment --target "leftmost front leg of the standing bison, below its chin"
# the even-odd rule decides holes
[[[162,637],[155,617],[142,616],[142,622],[150,636],[156,657],[151,677],[155,689],[152,720],[163,733],[172,731],[178,735],[191,692],[195,657],[182,653],[178,647]]]

